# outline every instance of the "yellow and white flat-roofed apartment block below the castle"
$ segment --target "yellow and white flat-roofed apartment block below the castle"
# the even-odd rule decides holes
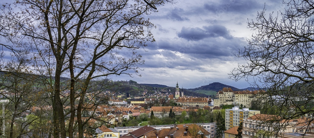
[[[241,122],[243,122],[243,119],[246,119],[248,117],[251,117],[256,114],[260,114],[261,111],[257,110],[249,110],[248,108],[242,108],[235,106],[232,107],[232,109],[226,109],[225,110],[225,125],[226,130],[239,126]]]

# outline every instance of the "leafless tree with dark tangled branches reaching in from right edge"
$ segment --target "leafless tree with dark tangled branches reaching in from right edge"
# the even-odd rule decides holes
[[[267,88],[254,97],[277,116],[273,123],[307,117],[303,125],[309,127],[314,120],[314,2],[283,4],[289,5],[283,13],[268,15],[263,10],[257,13],[256,21],[248,22],[256,33],[237,55],[247,64],[239,65],[230,75],[234,80],[253,76],[253,86]],[[274,126],[273,130],[284,129],[283,125]]]

